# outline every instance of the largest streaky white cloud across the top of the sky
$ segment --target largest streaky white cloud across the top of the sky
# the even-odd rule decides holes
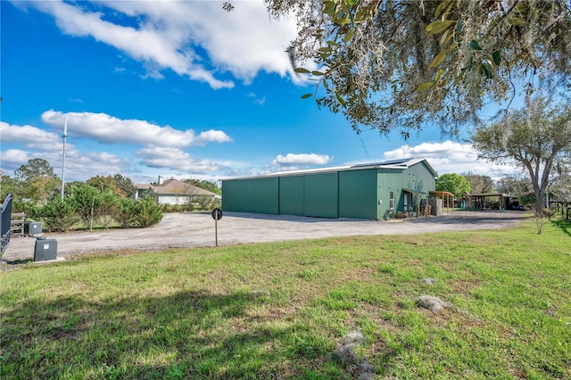
[[[65,34],[93,37],[143,62],[147,77],[161,78],[159,70],[170,69],[212,88],[235,86],[225,72],[246,83],[261,70],[301,80],[285,54],[295,22],[270,20],[261,0],[239,2],[233,12],[206,1],[25,4],[52,15]],[[97,12],[87,9],[95,7]]]

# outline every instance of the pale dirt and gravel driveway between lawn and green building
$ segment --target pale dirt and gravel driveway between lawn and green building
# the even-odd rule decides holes
[[[403,235],[497,229],[517,225],[520,211],[454,211],[439,217],[391,221],[319,219],[228,212],[218,221],[218,244],[231,245],[343,235]],[[119,249],[157,250],[215,245],[210,213],[169,213],[157,226],[97,232],[44,234],[57,241],[58,257]],[[2,266],[33,260],[35,237],[12,237]]]

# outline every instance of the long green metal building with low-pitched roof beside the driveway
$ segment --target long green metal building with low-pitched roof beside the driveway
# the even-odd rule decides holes
[[[222,210],[386,219],[397,211],[420,212],[436,176],[425,159],[407,159],[228,178],[222,179]]]

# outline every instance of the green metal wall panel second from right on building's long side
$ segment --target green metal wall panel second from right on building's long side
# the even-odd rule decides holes
[[[305,175],[305,216],[338,218],[338,173]]]

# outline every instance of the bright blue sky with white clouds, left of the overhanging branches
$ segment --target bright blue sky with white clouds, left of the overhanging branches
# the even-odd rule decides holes
[[[1,169],[30,159],[66,180],[219,178],[425,157],[439,174],[501,178],[467,144],[426,127],[357,135],[301,99],[285,54],[293,20],[263,1],[0,2]],[[308,91],[309,90],[309,91]]]

